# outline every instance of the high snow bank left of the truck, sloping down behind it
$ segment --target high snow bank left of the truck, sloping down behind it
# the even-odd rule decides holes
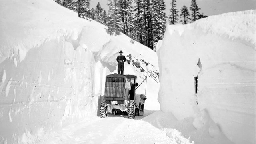
[[[36,143],[48,132],[96,116],[119,50],[132,54],[124,74],[136,74],[139,83],[148,67],[154,88],[147,91],[155,95],[148,95],[148,108],[157,105],[156,52],[123,34],[110,36],[106,26],[78,18],[53,0],[2,0],[0,10],[1,143]]]

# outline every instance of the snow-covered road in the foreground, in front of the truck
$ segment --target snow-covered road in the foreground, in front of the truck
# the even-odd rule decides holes
[[[95,117],[71,124],[41,143],[48,144],[168,144],[172,139],[166,132],[141,120],[127,116]],[[174,142],[174,141],[173,141]],[[174,142],[176,143],[176,142]]]

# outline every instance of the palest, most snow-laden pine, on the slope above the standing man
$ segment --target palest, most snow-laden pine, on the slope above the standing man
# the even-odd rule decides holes
[[[108,0],[108,6],[109,6],[109,10],[108,10],[108,22],[107,22],[107,26],[108,26],[108,33],[110,35],[112,34],[116,34],[119,35],[120,34],[120,30],[121,30],[121,16],[119,12],[119,8],[117,5],[117,0]]]

